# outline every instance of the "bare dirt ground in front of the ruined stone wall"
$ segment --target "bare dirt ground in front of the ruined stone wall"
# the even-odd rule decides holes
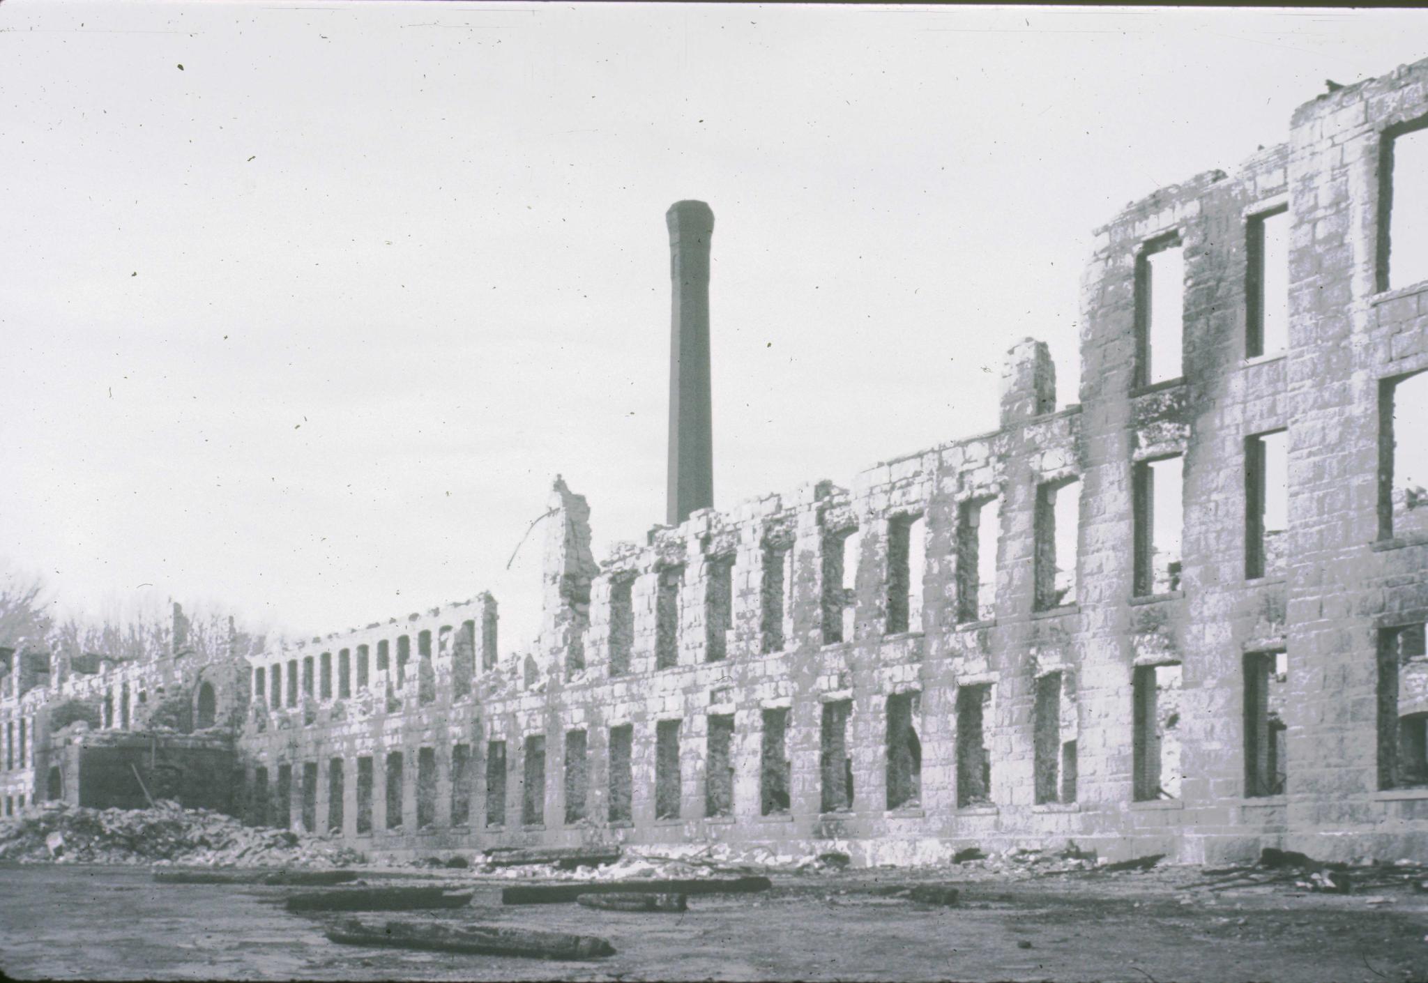
[[[961,903],[873,893],[932,879],[957,883]],[[320,917],[281,907],[290,887],[10,866],[0,870],[0,970],[96,980],[1428,980],[1428,893],[1187,889],[1198,879],[1185,867],[1031,879],[881,869],[775,877],[764,894],[691,896],[683,914],[635,914],[503,907],[510,880],[453,872],[443,880],[477,887],[471,907],[393,916],[600,934],[615,947],[573,963],[336,944]]]

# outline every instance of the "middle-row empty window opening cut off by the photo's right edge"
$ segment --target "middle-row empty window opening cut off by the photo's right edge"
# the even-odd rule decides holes
[[[1379,539],[1428,532],[1428,371],[1378,384]]]

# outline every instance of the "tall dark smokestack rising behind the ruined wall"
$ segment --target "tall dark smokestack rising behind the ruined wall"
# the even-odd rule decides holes
[[[678,526],[714,506],[714,421],[710,406],[710,239],[714,211],[675,201],[670,226],[670,507]]]

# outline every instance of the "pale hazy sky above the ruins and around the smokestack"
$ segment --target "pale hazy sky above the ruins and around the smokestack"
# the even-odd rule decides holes
[[[1075,400],[1090,231],[1428,54],[1377,10],[0,4],[0,553],[326,633],[490,587],[558,471],[664,514],[715,214],[715,503]],[[183,64],[183,70],[178,70]],[[503,649],[510,647],[503,644]]]

